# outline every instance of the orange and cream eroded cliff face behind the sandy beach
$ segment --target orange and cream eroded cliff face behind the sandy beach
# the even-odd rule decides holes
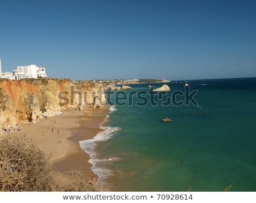
[[[105,106],[104,89],[96,82],[68,79],[25,79],[0,81],[0,125],[14,126],[20,121],[34,122],[71,107]]]

